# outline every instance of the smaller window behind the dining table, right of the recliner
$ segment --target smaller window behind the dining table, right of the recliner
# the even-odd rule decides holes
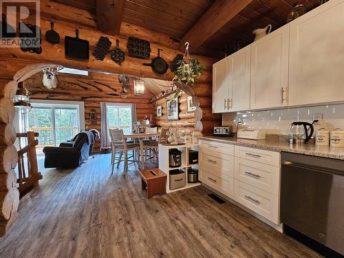
[[[124,133],[131,133],[133,129],[133,118],[131,104],[107,104],[107,124],[109,129],[123,129]]]

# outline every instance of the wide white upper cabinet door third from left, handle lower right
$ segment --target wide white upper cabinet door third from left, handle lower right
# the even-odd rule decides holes
[[[289,25],[251,45],[250,109],[288,105]]]

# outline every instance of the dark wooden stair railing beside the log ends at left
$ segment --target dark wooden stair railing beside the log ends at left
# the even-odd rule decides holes
[[[18,190],[21,196],[27,193],[32,187],[38,185],[39,180],[43,177],[39,172],[36,157],[36,145],[39,144],[35,137],[38,137],[39,133],[28,131],[28,133],[17,133],[17,138],[21,142],[20,138],[27,137],[28,145],[19,149],[18,151]],[[27,154],[27,157],[25,156]],[[26,162],[25,162],[26,161]]]

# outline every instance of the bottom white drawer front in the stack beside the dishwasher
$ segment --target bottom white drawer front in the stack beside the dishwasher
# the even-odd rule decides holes
[[[279,224],[279,198],[235,180],[234,200],[275,224]]]

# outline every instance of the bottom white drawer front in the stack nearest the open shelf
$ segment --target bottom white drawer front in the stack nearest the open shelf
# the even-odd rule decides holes
[[[228,177],[227,180],[212,175],[207,171],[201,169],[200,181],[213,189],[219,191],[220,193],[233,199],[234,197],[234,179]]]

